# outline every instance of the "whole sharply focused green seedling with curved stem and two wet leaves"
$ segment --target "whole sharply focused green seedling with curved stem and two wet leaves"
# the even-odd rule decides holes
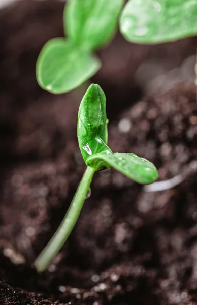
[[[132,153],[113,153],[108,147],[106,97],[100,86],[92,84],[84,95],[78,113],[77,136],[87,169],[56,233],[35,261],[39,272],[45,270],[69,237],[95,171],[114,167],[140,184],[150,184],[158,177],[155,166]]]

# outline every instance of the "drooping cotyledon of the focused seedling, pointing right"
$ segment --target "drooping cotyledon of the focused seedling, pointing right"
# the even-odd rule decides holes
[[[150,184],[158,178],[158,172],[153,163],[132,153],[103,151],[90,156],[86,160],[86,165],[95,168],[96,164],[99,166],[102,161],[140,184]]]

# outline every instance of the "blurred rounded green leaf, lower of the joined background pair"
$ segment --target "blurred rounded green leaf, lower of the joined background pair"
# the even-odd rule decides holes
[[[39,85],[60,94],[80,86],[101,68],[100,60],[72,41],[55,38],[43,47],[36,67]]]

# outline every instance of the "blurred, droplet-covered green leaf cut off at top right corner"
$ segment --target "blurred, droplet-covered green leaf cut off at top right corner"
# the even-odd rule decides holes
[[[130,42],[162,43],[197,34],[197,0],[129,0],[120,31]]]

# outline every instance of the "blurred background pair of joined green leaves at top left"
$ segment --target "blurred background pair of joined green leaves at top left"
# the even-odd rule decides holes
[[[80,86],[100,68],[92,52],[106,45],[116,31],[124,0],[69,0],[63,14],[67,38],[48,41],[37,61],[42,88],[60,94]]]

